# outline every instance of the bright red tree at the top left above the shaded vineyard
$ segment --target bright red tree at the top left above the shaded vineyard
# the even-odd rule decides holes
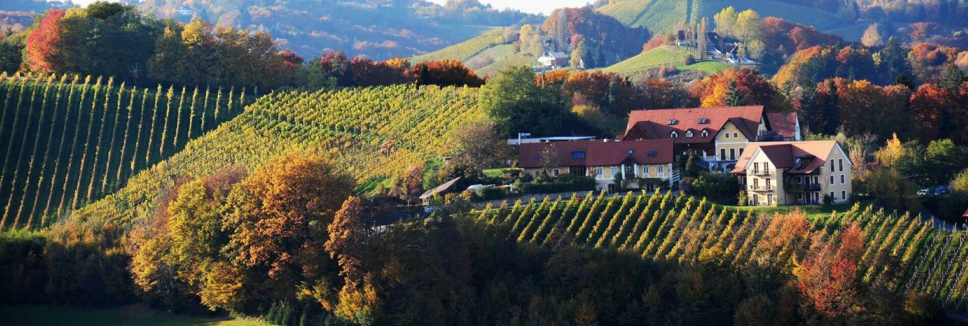
[[[63,10],[52,10],[30,35],[27,36],[27,68],[36,73],[53,73],[57,71],[58,45],[61,41],[60,20],[64,17]]]

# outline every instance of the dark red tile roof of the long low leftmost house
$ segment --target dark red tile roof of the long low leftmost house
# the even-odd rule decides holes
[[[533,168],[541,167],[540,155],[545,149],[555,147],[561,166],[604,166],[620,165],[631,159],[640,164],[673,163],[672,139],[642,139],[642,140],[584,140],[559,141],[521,144],[518,148],[518,166]],[[629,151],[632,154],[629,154]],[[572,152],[585,152],[584,159],[573,159]],[[654,152],[654,155],[649,155]]]

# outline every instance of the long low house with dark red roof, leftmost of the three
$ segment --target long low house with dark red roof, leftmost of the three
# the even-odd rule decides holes
[[[678,181],[674,176],[679,171],[673,161],[672,139],[604,139],[523,143],[519,148],[518,167],[532,175],[543,171],[553,178],[562,174],[594,177],[600,191],[653,192],[672,187]],[[616,182],[621,182],[621,187]]]

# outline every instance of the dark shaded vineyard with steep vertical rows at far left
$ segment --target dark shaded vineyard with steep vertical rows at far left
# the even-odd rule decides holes
[[[0,76],[3,228],[36,228],[124,185],[238,114],[244,93],[111,78]]]

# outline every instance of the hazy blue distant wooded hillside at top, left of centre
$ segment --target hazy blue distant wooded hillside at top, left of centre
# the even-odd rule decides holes
[[[407,57],[466,41],[486,26],[541,18],[494,10],[477,1],[439,6],[422,0],[146,0],[138,6],[181,21],[198,16],[220,25],[266,31],[280,39],[281,47],[307,58],[328,50],[375,59]]]

